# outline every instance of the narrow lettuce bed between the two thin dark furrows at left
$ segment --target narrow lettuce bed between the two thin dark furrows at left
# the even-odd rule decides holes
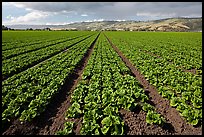
[[[10,77],[16,73],[19,73],[28,67],[34,66],[35,64],[56,55],[63,50],[70,48],[78,42],[81,42],[89,37],[93,37],[94,34],[72,39],[63,43],[48,46],[33,52],[25,53],[19,56],[12,57],[2,61],[3,67],[2,72],[4,77]],[[55,44],[55,42],[53,42]]]

